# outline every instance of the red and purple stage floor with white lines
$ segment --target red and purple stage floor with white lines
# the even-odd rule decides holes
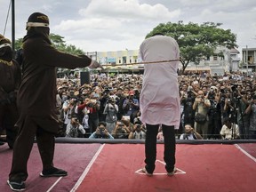
[[[36,143],[28,162],[29,192],[254,192],[256,143],[177,144],[174,176],[164,170],[164,145],[157,145],[153,177],[141,172],[143,143],[57,143],[54,164],[67,177],[41,178],[42,164]],[[0,191],[8,192],[6,180],[12,150],[0,147]]]

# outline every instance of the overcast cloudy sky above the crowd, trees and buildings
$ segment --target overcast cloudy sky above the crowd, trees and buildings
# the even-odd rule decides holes
[[[4,34],[9,0],[0,0],[0,34]],[[50,19],[51,33],[64,36],[84,52],[139,49],[145,36],[168,21],[219,22],[237,36],[238,50],[256,48],[255,0],[16,0],[15,38],[26,34],[33,12]],[[5,36],[11,36],[11,14]]]

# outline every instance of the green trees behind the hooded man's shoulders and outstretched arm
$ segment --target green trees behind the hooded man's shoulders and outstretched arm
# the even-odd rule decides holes
[[[77,49],[75,45],[66,44],[63,40],[63,36],[50,34],[50,40],[52,42],[52,46],[55,47],[60,52],[67,52],[73,55],[83,55],[84,52],[81,49]],[[15,41],[15,50],[19,50],[22,46],[23,38],[19,38]]]

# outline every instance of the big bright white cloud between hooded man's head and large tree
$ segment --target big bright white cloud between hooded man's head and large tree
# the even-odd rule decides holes
[[[79,14],[82,16],[80,20],[62,20],[52,29],[61,31],[61,36],[69,36],[66,38],[68,43],[92,50],[92,46],[88,48],[84,44],[93,42],[94,46],[97,42],[101,51],[108,51],[111,47],[114,50],[117,44],[138,49],[152,28],[159,22],[178,17],[180,11],[170,12],[163,4],[139,4],[138,0],[93,0],[80,9]],[[75,38],[81,38],[81,41]]]

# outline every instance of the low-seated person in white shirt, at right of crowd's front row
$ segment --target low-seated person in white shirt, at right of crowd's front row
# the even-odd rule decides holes
[[[237,140],[239,139],[239,128],[235,123],[231,123],[230,118],[227,118],[223,122],[223,126],[220,130],[220,135],[223,140]]]

